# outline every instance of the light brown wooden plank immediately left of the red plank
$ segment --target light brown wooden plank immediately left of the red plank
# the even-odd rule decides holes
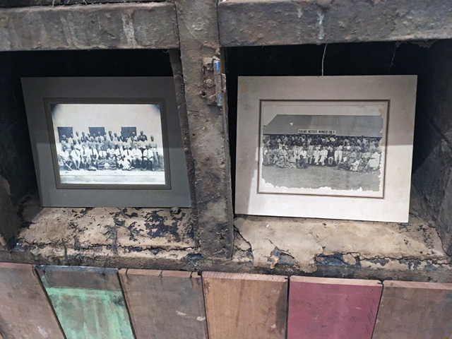
[[[283,339],[287,277],[203,273],[210,339]]]

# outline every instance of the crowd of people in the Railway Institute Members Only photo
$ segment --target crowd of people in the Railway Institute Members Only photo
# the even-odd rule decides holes
[[[299,139],[301,136],[276,136],[264,141],[263,165],[282,168],[321,165],[352,172],[372,172],[381,166],[378,138],[304,136],[301,145]]]

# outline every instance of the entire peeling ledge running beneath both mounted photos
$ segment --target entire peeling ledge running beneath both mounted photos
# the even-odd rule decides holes
[[[452,283],[451,258],[415,189],[406,224],[240,216],[232,259],[201,255],[189,209],[24,206],[16,248],[0,261]]]

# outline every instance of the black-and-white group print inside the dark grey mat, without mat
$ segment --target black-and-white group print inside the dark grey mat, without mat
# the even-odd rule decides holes
[[[61,184],[165,184],[159,105],[52,105]]]

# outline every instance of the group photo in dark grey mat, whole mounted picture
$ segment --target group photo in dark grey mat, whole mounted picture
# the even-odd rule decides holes
[[[42,206],[190,206],[172,78],[22,82]]]

